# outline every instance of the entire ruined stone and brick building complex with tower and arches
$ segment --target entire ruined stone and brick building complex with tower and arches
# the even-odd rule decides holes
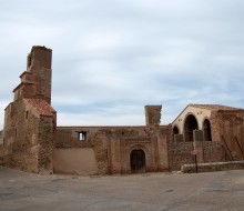
[[[244,110],[189,104],[169,125],[146,105],[145,125],[57,127],[51,107],[52,51],[33,47],[6,108],[6,167],[37,173],[114,174],[177,171],[183,164],[244,160]],[[192,153],[192,154],[191,154]]]

